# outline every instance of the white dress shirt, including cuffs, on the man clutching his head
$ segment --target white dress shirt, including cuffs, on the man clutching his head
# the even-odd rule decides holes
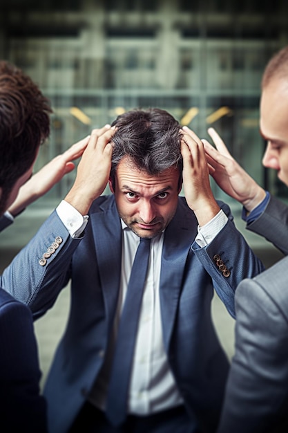
[[[81,216],[77,210],[65,201],[62,201],[57,207],[57,214],[73,237],[81,234],[88,222],[88,216]],[[201,247],[207,245],[226,223],[227,216],[220,210],[209,223],[201,228],[198,227],[198,235],[195,240]],[[115,342],[117,324],[126,296],[128,279],[137,246],[140,242],[140,238],[123,221],[122,230],[122,275],[114,335],[110,342],[110,349],[106,354],[104,367],[89,396],[90,402],[101,409],[105,409],[108,371],[112,358],[109,356],[109,351],[113,349]],[[173,374],[169,368],[162,338],[159,286],[163,239],[164,233],[151,241],[148,274],[144,286],[131,372],[131,385],[128,393],[128,412],[131,414],[151,414],[182,403],[182,397],[177,390]],[[193,240],[191,239],[191,244]]]

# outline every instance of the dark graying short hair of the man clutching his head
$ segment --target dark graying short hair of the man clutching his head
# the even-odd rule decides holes
[[[121,114],[111,126],[113,136],[111,181],[115,186],[117,165],[128,156],[137,169],[148,174],[160,174],[171,167],[179,169],[182,184],[182,154],[180,124],[162,109],[133,109]]]

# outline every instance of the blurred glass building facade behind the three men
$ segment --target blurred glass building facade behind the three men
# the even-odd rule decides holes
[[[258,125],[262,72],[288,44],[285,1],[2,0],[0,8],[0,57],[52,102],[36,169],[119,113],[160,107],[200,138],[213,126],[258,183],[288,199],[261,165]],[[42,205],[58,203],[74,178]]]

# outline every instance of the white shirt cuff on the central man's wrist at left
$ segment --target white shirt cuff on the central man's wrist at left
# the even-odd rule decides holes
[[[81,215],[80,212],[65,200],[62,200],[61,203],[59,203],[56,212],[70,233],[70,236],[73,238],[80,237],[81,233],[86,228],[89,216]]]

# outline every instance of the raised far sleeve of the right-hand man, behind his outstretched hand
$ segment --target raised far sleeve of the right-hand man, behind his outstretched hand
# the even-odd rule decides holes
[[[282,201],[271,196],[265,211],[246,228],[265,237],[288,255],[288,206]]]

